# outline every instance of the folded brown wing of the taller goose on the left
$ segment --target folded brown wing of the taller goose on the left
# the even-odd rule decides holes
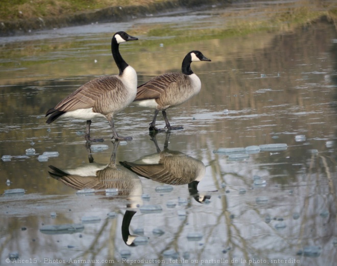
[[[122,86],[122,81],[116,76],[103,76],[91,80],[64,98],[55,109],[68,112],[94,107],[95,102],[104,94]]]

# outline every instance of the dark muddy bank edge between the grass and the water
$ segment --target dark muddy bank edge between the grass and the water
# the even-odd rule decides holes
[[[0,21],[0,36],[14,36],[38,30],[50,30],[70,26],[88,25],[96,22],[122,22],[136,17],[146,17],[168,12],[184,12],[186,9],[200,9],[231,4],[231,0],[174,0],[147,6],[117,6],[59,17]]]

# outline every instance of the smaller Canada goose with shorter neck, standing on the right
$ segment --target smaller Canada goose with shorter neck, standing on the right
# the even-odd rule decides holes
[[[134,102],[142,107],[155,108],[155,114],[150,123],[150,131],[160,131],[156,128],[156,117],[162,112],[168,131],[183,129],[172,127],[166,116],[166,109],[186,102],[201,89],[200,79],[192,71],[190,65],[195,61],[211,61],[199,51],[189,52],[181,66],[182,73],[166,73],[152,78],[147,83],[137,87],[137,95]]]

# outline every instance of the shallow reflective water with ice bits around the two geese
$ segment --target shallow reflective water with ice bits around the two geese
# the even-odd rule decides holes
[[[173,28],[200,29],[206,21],[219,27],[221,12],[228,9],[161,21]],[[172,20],[184,25],[172,25]],[[9,254],[18,252],[19,259],[38,265],[131,264],[123,259],[140,260],[132,265],[333,265],[334,26],[320,21],[287,32],[232,38],[210,33],[208,39],[192,35],[181,42],[172,41],[174,36],[135,33],[151,23],[157,24],[158,18],[0,40],[0,156],[11,156],[0,161],[0,263],[7,264]],[[139,84],[179,71],[190,50],[202,51],[212,62],[192,64],[202,91],[167,111],[171,124],[183,125],[183,130],[149,135],[153,111],[131,105],[116,115],[115,125],[119,134],[133,140],[114,146],[107,121],[100,119],[93,121],[91,134],[105,141],[89,148],[83,139],[85,122],[47,125],[44,113],[86,81],[116,73],[109,45],[111,32],[121,28],[139,38],[121,45]],[[161,115],[157,123],[164,126]],[[273,143],[286,146],[225,150]],[[35,154],[26,155],[31,148]],[[44,152],[59,155],[39,161]],[[170,161],[171,171],[191,173],[190,179],[148,179],[121,165],[140,158],[158,161],[159,156],[162,163]],[[99,181],[110,181],[106,186],[118,190],[78,194],[52,178],[50,165],[73,176],[92,177],[99,170]],[[197,177],[196,190],[191,182]],[[165,183],[171,187],[162,187]],[[14,188],[25,189],[25,194],[5,194]],[[87,216],[89,223],[83,221]],[[84,229],[40,230],[63,224],[83,224]],[[123,238],[128,228],[145,236],[135,240],[135,247]]]

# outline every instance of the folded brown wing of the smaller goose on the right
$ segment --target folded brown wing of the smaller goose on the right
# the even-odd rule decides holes
[[[137,87],[137,95],[134,101],[158,99],[165,89],[172,83],[184,78],[182,73],[166,73],[152,78],[147,83]]]

